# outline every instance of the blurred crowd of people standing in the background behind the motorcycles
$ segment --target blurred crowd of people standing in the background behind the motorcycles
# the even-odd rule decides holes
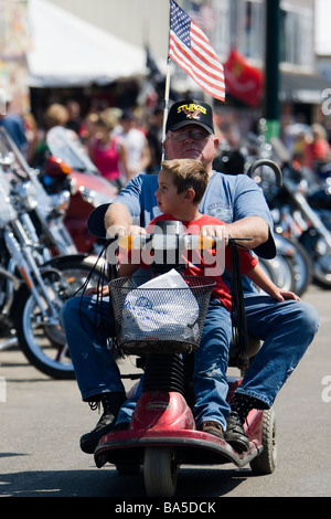
[[[222,114],[215,116],[215,126],[227,147],[239,148],[239,129],[228,125]],[[118,187],[124,187],[139,173],[158,172],[162,158],[163,104],[153,112],[120,109],[106,104],[92,103],[82,116],[75,99],[53,103],[44,112],[42,125],[33,115],[19,117],[11,113],[0,116],[3,126],[32,167],[42,167],[47,150],[46,134],[53,126],[75,131],[100,173]],[[231,128],[229,128],[231,126]],[[321,123],[308,125],[293,120],[285,125],[281,140],[296,168],[308,168],[322,176],[324,165],[331,162],[331,131]]]

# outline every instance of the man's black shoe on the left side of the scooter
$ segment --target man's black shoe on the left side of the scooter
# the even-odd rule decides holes
[[[93,454],[105,434],[113,431],[121,404],[126,401],[125,393],[105,393],[102,396],[104,413],[90,433],[81,437],[81,448],[86,454]]]

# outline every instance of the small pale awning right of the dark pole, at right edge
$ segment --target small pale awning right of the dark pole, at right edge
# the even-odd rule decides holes
[[[330,87],[331,83],[319,75],[280,74],[281,100],[319,105],[323,102],[322,92]]]

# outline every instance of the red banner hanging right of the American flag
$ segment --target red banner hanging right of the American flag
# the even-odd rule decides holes
[[[263,95],[264,74],[233,49],[224,64],[226,93],[248,106],[259,104]]]

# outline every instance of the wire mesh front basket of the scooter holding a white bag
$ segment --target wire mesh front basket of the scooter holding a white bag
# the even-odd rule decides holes
[[[145,277],[109,284],[118,348],[125,353],[180,353],[199,348],[215,282],[183,276],[185,287],[150,288]]]

